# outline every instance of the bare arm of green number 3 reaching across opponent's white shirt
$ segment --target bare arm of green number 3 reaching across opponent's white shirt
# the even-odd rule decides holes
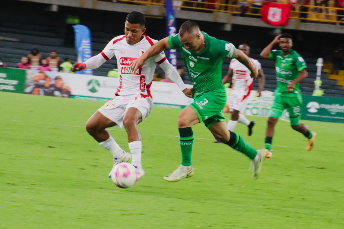
[[[133,72],[136,72],[138,69],[142,68],[146,60],[161,53],[166,48],[171,48],[169,45],[169,37],[161,39],[160,41],[152,45],[152,47],[150,47],[144,54],[142,54],[142,56],[140,56],[136,60],[133,60],[130,64],[131,70]]]

